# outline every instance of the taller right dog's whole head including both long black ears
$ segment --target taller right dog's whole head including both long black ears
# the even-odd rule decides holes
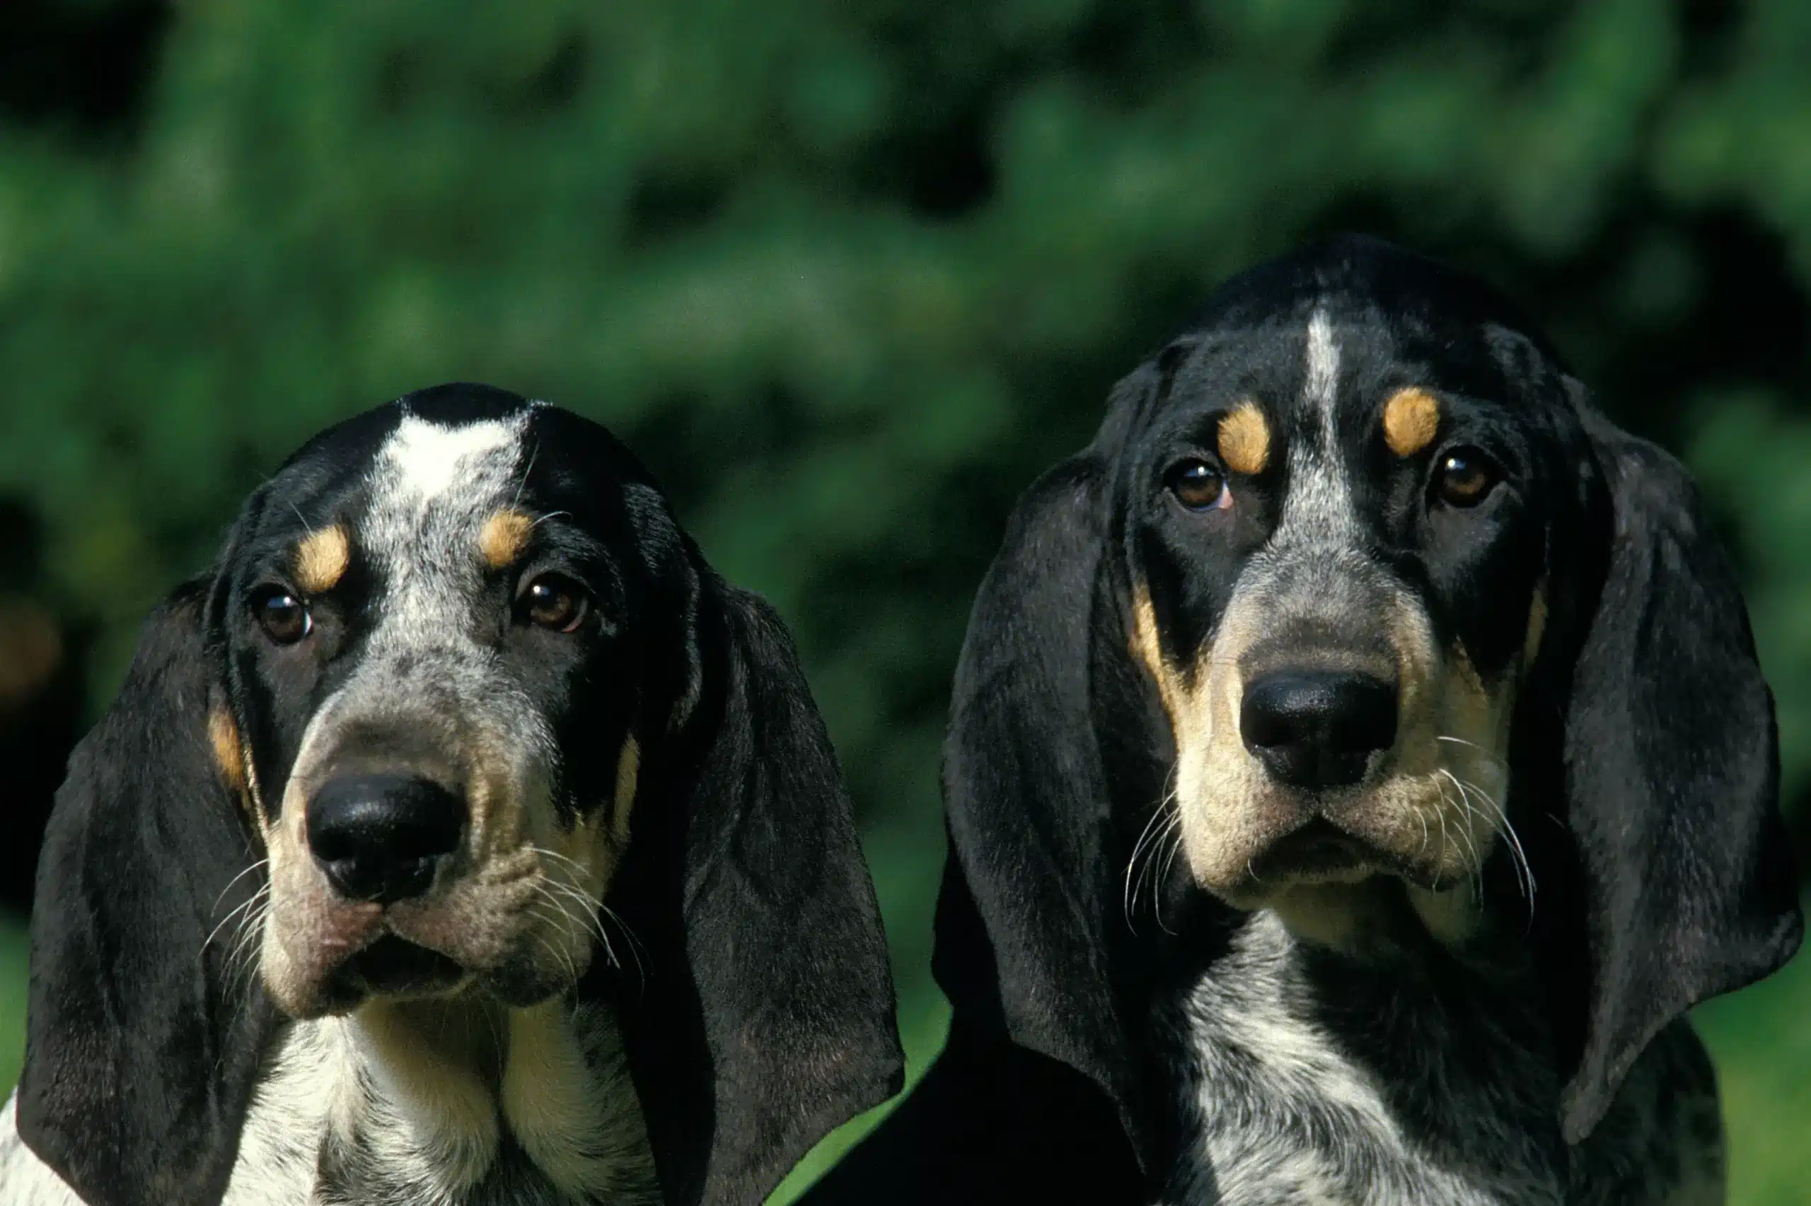
[[[1443,942],[1492,882],[1532,898],[1570,1139],[1798,943],[1771,697],[1688,474],[1505,301],[1373,241],[1228,282],[1025,494],[945,791],[958,1021],[1090,1076],[1146,1164],[1152,880],[1360,945],[1380,893]]]

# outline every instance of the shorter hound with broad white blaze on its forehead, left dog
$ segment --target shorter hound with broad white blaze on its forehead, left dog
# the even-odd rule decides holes
[[[759,1202],[891,1014],[781,621],[601,427],[442,386],[264,482],[76,750],[0,1201]]]

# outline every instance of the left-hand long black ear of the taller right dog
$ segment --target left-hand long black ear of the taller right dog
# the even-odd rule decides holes
[[[944,761],[936,974],[958,1029],[1083,1072],[1148,1157],[1157,1135],[1114,960],[1123,943],[1108,933],[1119,846],[1092,710],[1103,489],[1092,455],[1040,478],[976,596]]]

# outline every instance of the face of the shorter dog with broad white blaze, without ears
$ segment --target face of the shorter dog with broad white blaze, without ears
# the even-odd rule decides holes
[[[391,407],[248,512],[210,728],[264,842],[261,971],[293,1016],[473,985],[529,1005],[598,945],[639,770],[627,650],[657,634],[641,487],[576,473],[563,422]]]

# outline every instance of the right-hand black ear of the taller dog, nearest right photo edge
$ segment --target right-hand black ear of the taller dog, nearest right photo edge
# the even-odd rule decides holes
[[[1583,415],[1614,505],[1567,713],[1590,996],[1565,1134],[1603,1117],[1648,1039],[1784,963],[1802,918],[1778,815],[1773,695],[1684,467]]]

